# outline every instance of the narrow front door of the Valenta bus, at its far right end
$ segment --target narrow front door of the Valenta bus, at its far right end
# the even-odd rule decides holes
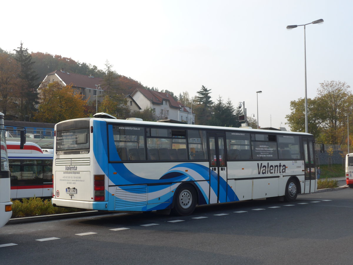
[[[314,145],[312,139],[303,139],[305,162],[304,193],[315,192],[317,188]]]

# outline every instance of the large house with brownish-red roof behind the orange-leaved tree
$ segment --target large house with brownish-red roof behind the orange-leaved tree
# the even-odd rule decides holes
[[[55,70],[48,73],[41,86],[47,86],[55,81],[60,82],[62,86],[72,84],[72,88],[77,89],[78,93],[84,95],[83,99],[88,99],[89,102],[92,100],[101,101],[104,95],[103,78],[100,77],[79,75],[78,73],[65,72],[64,69],[61,69],[60,71]],[[38,92],[40,92],[41,86],[38,88]]]

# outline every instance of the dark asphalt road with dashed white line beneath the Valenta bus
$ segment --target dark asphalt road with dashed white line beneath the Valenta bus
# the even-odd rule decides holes
[[[351,264],[353,189],[145,214],[9,224],[0,264]],[[347,229],[348,228],[348,229]]]

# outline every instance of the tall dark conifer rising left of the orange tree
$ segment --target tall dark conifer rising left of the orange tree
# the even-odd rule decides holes
[[[28,48],[24,49],[22,42],[20,47],[17,48],[18,50],[14,50],[16,52],[14,58],[20,65],[19,78],[23,81],[19,87],[20,96],[17,102],[19,105],[19,119],[29,121],[34,116],[36,106],[39,103],[37,95],[38,85],[35,83],[37,75],[32,70],[34,62],[32,62],[32,55],[28,53]]]

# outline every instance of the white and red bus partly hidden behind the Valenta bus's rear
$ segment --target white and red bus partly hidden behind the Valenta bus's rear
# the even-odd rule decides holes
[[[52,197],[53,153],[43,152],[36,143],[7,142],[11,171],[11,199]]]

